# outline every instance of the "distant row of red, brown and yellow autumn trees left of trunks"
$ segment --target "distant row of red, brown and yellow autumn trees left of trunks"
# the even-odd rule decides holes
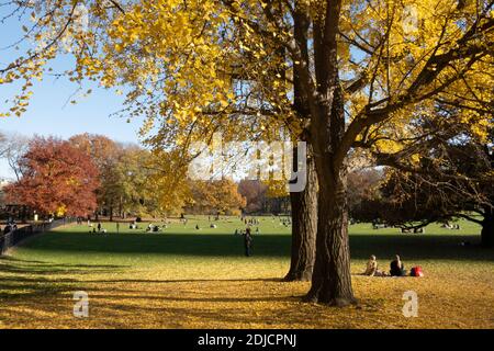
[[[173,157],[102,135],[63,140],[0,134],[0,157],[15,179],[2,205],[18,216],[159,217],[190,214],[288,213],[288,196],[259,181],[191,180]],[[29,208],[29,211],[26,211]],[[25,219],[25,218],[23,218]]]

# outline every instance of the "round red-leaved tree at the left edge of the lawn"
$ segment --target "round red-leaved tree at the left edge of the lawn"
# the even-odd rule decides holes
[[[85,216],[97,208],[98,169],[70,143],[35,137],[23,156],[26,170],[5,194],[42,214]]]

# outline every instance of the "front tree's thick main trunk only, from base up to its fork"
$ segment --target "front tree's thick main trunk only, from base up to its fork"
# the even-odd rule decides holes
[[[348,240],[347,171],[335,157],[345,133],[344,97],[336,73],[322,116],[312,126],[315,165],[319,184],[316,259],[306,301],[334,306],[356,303],[351,287]],[[329,105],[329,106],[328,106]]]

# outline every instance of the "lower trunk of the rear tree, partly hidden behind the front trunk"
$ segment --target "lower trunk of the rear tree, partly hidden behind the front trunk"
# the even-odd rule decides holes
[[[307,152],[308,154],[308,152]],[[296,157],[296,152],[293,152]],[[285,281],[310,281],[315,260],[317,228],[317,178],[314,160],[307,155],[306,185],[290,193],[292,204],[292,254]]]

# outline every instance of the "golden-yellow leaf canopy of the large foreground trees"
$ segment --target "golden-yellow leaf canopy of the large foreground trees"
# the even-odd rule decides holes
[[[70,1],[61,2],[68,9]],[[126,4],[124,12],[86,3],[92,27],[79,37],[79,47],[72,52],[77,63],[71,79],[89,77],[106,88],[125,87],[125,113],[147,120],[143,135],[155,135],[154,140],[167,140],[171,146],[172,138],[167,136],[184,145],[207,139],[218,129],[232,138],[270,138],[281,129],[295,136],[300,133],[293,111],[292,68],[300,57],[287,49],[293,44],[293,8],[280,4],[281,12],[272,13],[281,15],[271,20],[266,10],[273,3],[258,0],[141,0]],[[297,1],[297,7],[318,21],[325,3],[305,0]],[[384,106],[406,95],[431,55],[456,48],[479,13],[476,2],[458,5],[457,0],[343,2],[340,77],[369,76],[363,89],[346,94],[349,122],[364,106]],[[57,12],[58,20],[66,16],[64,9]],[[479,33],[478,41],[492,43],[492,31]],[[313,50],[310,41],[308,48]],[[55,49],[47,57],[54,55]],[[31,69],[22,66],[14,76],[0,75],[0,83],[40,76],[48,58],[33,60]],[[402,148],[400,140],[416,132],[409,128],[417,116],[414,110],[433,116],[434,99],[460,101],[460,122],[470,124],[473,134],[485,136],[490,122],[482,104],[493,101],[492,57],[472,67],[467,64],[465,59],[451,63],[415,92],[430,93],[427,102],[396,111],[371,127],[368,132],[380,140],[377,146]],[[462,79],[435,93],[459,72]],[[24,111],[26,97],[18,99],[18,110],[11,113]]]

